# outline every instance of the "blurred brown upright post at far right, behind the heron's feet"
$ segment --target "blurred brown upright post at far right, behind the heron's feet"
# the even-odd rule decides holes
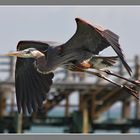
[[[135,80],[139,80],[139,74],[140,74],[139,57],[135,56],[135,75],[134,75]],[[137,90],[139,90],[139,88],[137,88]],[[135,118],[140,119],[140,102],[138,100],[135,100],[135,104],[136,104]]]

